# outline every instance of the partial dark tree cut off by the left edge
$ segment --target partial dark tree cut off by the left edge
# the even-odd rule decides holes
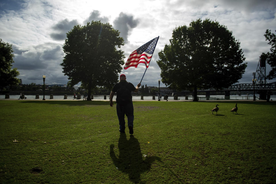
[[[18,85],[19,79],[16,78],[19,72],[16,68],[11,69],[14,63],[14,50],[9,43],[2,42],[0,39],[0,88],[9,85]]]

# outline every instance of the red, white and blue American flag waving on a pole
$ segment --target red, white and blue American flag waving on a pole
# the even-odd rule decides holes
[[[127,62],[124,65],[124,69],[126,70],[131,66],[135,66],[135,68],[137,68],[139,63],[145,63],[146,67],[148,68],[158,38],[159,37],[152,39],[151,41],[145,43],[144,45],[133,51],[129,55],[129,58],[127,59]]]

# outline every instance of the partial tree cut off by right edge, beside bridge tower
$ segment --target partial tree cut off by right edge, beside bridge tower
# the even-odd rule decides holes
[[[275,30],[276,32],[276,30]],[[264,34],[265,40],[269,41],[269,45],[271,45],[270,51],[266,54],[262,53],[262,55],[265,55],[267,59],[267,63],[271,66],[271,70],[267,76],[269,79],[276,78],[276,35],[274,33],[271,33],[271,30],[266,30]]]

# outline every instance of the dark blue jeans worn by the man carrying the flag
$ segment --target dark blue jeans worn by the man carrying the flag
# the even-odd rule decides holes
[[[120,131],[124,131],[124,129],[126,128],[124,115],[127,116],[127,126],[133,127],[134,115],[133,115],[132,101],[124,106],[121,106],[120,104],[117,103],[116,110],[117,110],[117,116],[119,119]]]

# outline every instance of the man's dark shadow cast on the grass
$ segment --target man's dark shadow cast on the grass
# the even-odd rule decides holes
[[[146,156],[143,160],[144,156],[141,153],[140,143],[133,135],[130,135],[130,139],[127,140],[127,135],[121,133],[118,148],[119,156],[117,158],[114,153],[114,145],[110,145],[110,157],[116,168],[123,173],[127,173],[129,179],[134,183],[141,183],[140,174],[150,170],[152,162],[155,160],[161,161],[157,156]]]

